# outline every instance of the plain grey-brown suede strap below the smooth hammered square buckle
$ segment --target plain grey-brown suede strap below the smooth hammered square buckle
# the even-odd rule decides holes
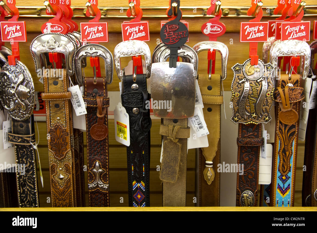
[[[175,121],[176,122],[176,121]],[[161,125],[162,126],[162,125]],[[167,127],[168,126],[168,136]],[[186,136],[180,136],[181,130]],[[186,132],[187,131],[187,132]],[[187,138],[190,128],[186,119],[163,119],[163,154],[159,178],[163,181],[163,206],[186,205]]]

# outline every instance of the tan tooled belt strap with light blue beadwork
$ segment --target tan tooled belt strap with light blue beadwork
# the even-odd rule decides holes
[[[288,83],[292,85],[288,86]],[[281,92],[284,96],[282,96]],[[270,191],[271,206],[294,206],[299,121],[293,116],[296,113],[299,115],[300,101],[304,97],[304,91],[301,88],[301,77],[297,74],[292,74],[291,80],[288,80],[288,74],[281,74],[281,78],[277,83],[277,91],[275,91],[275,101],[278,107]],[[288,108],[285,109],[283,102],[285,101],[287,104],[288,99]],[[286,113],[283,113],[283,111]],[[285,119],[281,118],[281,115],[288,114],[290,111],[292,111],[292,115],[288,119],[293,119],[293,123],[289,121],[289,124],[285,124],[282,122],[285,122]]]

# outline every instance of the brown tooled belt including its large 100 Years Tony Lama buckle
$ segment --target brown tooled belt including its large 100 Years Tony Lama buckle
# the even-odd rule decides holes
[[[235,74],[231,85],[231,120],[240,123],[238,165],[243,166],[243,174],[237,172],[236,206],[257,206],[259,156],[263,144],[261,124],[271,120],[273,66],[270,63],[263,64],[261,60],[251,66],[248,59],[231,69]]]

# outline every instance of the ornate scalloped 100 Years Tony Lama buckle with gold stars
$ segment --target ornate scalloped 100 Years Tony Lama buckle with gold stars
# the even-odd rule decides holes
[[[231,84],[233,113],[231,120],[237,124],[268,123],[272,118],[274,80],[273,65],[260,59],[251,66],[251,59],[242,65],[236,63],[231,69],[234,78]]]

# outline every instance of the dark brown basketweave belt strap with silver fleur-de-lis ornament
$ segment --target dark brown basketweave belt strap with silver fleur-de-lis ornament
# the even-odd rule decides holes
[[[88,196],[90,207],[110,206],[109,195],[109,142],[107,82],[105,77],[84,77],[84,101],[87,103],[87,159],[88,159]],[[98,102],[98,101],[101,101]],[[104,113],[101,116],[100,111]],[[98,117],[97,114],[101,117]],[[92,136],[95,124],[105,125],[101,138]],[[94,132],[93,132],[94,133]],[[94,134],[93,134],[94,135]]]

